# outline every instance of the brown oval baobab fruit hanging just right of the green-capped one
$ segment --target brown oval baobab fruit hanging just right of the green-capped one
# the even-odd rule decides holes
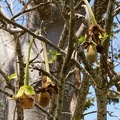
[[[40,92],[38,96],[38,103],[42,107],[47,107],[50,102],[50,94],[47,91]]]

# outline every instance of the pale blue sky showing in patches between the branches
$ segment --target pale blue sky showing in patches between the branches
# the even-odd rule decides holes
[[[5,0],[0,0],[0,6],[4,8],[5,12],[8,14],[8,17],[10,17],[11,13],[9,12],[8,9],[6,9],[7,6],[6,6],[6,4],[4,4],[4,1]],[[21,6],[21,4],[19,4],[17,0],[8,0],[8,1],[10,3],[13,3],[13,5],[11,4],[11,7],[13,8],[12,12],[14,14],[17,14],[19,11],[21,11],[21,8],[23,6]],[[117,1],[120,2],[120,0],[117,0]],[[93,4],[93,2],[94,2],[94,0],[91,0],[91,5]],[[120,15],[118,15],[118,18],[120,19]],[[19,24],[25,24],[25,22],[26,22],[25,19],[26,19],[25,17],[20,17],[19,19],[16,19],[16,20]],[[116,19],[114,19],[114,21],[116,21]],[[119,29],[120,29],[120,24],[119,24]],[[116,34],[116,38],[117,39],[114,40],[114,47],[120,48],[120,34]],[[120,66],[117,66],[115,68],[115,71],[120,72]],[[92,92],[92,97],[95,97],[95,92],[92,87],[90,87],[89,91]],[[88,97],[90,97],[90,95],[88,95]],[[92,106],[90,109],[85,111],[85,113],[88,113],[91,111],[96,111],[96,108],[97,107],[96,107],[96,100],[95,100],[94,106]],[[109,116],[109,114],[107,114],[107,120],[120,120],[120,103],[115,104],[115,105],[113,105],[113,104],[107,105],[107,109],[110,111],[114,111],[113,115],[117,116],[117,117],[111,117],[111,116]],[[86,115],[85,120],[96,120],[96,113]]]

